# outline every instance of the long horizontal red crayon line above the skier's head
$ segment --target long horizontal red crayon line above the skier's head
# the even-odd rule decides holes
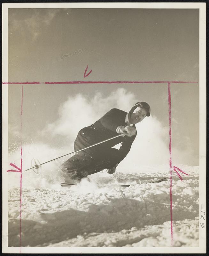
[[[198,83],[196,81],[66,81],[66,82],[3,82],[2,84],[163,84]]]

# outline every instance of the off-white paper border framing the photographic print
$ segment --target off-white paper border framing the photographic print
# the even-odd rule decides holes
[[[104,7],[105,6],[105,7]],[[8,184],[6,170],[8,159],[8,9],[9,8],[196,8],[200,11],[200,212],[206,210],[206,4],[205,3],[17,3],[3,4],[3,252],[4,253],[205,253],[206,252],[206,221],[205,228],[199,228],[199,247],[7,247],[8,237]],[[38,81],[37,81],[38,82]],[[92,82],[92,81],[90,81]],[[96,82],[96,81],[94,81]],[[99,82],[99,81],[97,81]],[[123,81],[124,82],[124,81]],[[128,81],[130,82],[130,81]],[[132,81],[133,82],[133,81]],[[145,81],[144,81],[145,82]],[[169,81],[165,81],[169,83]],[[18,83],[18,81],[17,81]],[[42,82],[41,82],[42,83]],[[48,83],[45,81],[45,83]],[[63,82],[62,82],[63,83]],[[70,82],[72,83],[72,82]],[[83,81],[83,83],[87,83]],[[172,83],[172,81],[171,81]],[[26,84],[26,83],[24,83]],[[14,85],[15,86],[15,85]],[[21,101],[20,101],[21,102]],[[21,103],[20,103],[21,104]],[[22,105],[20,105],[22,106]],[[21,118],[21,117],[20,117]],[[20,167],[22,170],[22,168]],[[20,174],[21,175],[21,174]],[[204,208],[205,207],[205,208]],[[201,214],[199,213],[199,216]],[[200,220],[201,221],[201,220]],[[175,252],[174,252],[175,251]]]

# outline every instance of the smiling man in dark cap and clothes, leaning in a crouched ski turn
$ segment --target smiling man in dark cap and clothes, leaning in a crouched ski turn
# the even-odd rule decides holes
[[[106,141],[97,146],[75,153],[63,165],[67,174],[65,182],[80,181],[88,175],[107,169],[113,174],[118,164],[128,154],[136,137],[135,124],[141,122],[145,116],[150,116],[150,106],[146,102],[137,102],[129,113],[112,108],[94,124],[84,127],[78,132],[74,142],[74,150],[80,150],[97,142],[109,139],[120,133],[120,137]],[[121,143],[120,149],[112,148]]]

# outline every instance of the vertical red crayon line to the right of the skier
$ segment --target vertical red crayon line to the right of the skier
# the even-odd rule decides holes
[[[171,84],[168,82],[168,116],[169,116],[169,154],[170,154],[170,218],[171,246],[173,246],[173,196],[172,196],[172,151],[171,151]]]

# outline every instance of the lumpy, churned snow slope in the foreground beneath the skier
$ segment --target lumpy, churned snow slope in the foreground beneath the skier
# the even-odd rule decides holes
[[[172,179],[173,246],[199,246],[198,167]],[[146,170],[144,170],[146,172]],[[170,247],[170,180],[158,173],[105,172],[74,187],[44,177],[22,189],[21,245],[41,247]],[[137,185],[136,183],[140,183]],[[98,186],[103,185],[103,186]],[[119,184],[133,184],[121,187]],[[20,242],[20,190],[8,194],[8,246]]]

